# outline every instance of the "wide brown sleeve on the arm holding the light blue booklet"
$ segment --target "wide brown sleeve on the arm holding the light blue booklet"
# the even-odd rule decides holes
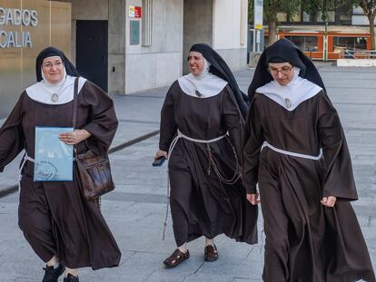
[[[114,140],[118,125],[114,102],[106,92],[89,81],[84,83],[82,91],[80,95],[84,95],[84,105],[89,108],[87,122],[82,129],[92,134],[88,139],[90,149],[104,153]]]

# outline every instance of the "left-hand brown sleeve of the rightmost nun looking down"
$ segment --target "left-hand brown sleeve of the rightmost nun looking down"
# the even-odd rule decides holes
[[[248,194],[256,193],[259,156],[263,141],[262,122],[257,107],[257,96],[255,96],[245,121],[242,151],[242,181]]]

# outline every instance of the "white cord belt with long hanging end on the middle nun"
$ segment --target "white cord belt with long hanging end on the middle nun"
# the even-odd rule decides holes
[[[186,136],[181,131],[177,130],[177,135],[173,139],[173,141],[171,142],[170,148],[168,149],[168,155],[167,155],[167,205],[166,205],[166,214],[165,214],[164,222],[163,222],[163,240],[164,240],[164,234],[165,234],[165,230],[166,230],[166,226],[167,226],[168,210],[169,210],[169,206],[170,206],[170,190],[171,189],[170,189],[170,176],[169,176],[169,171],[168,171],[168,162],[170,160],[171,154],[173,152],[173,149],[175,148],[177,141],[179,141],[179,139],[181,139],[181,138],[183,138],[187,141],[195,142],[195,143],[206,144],[206,151],[208,153],[208,160],[209,160],[209,167],[208,167],[208,171],[207,171],[208,175],[210,175],[211,167],[213,166],[213,170],[214,170],[215,174],[225,184],[232,185],[233,183],[235,183],[240,178],[239,161],[238,161],[238,158],[236,156],[235,148],[233,147],[233,144],[228,139],[228,132],[226,132],[226,134],[223,134],[222,136],[219,136],[219,137],[211,139],[211,140],[200,140],[200,139],[194,139],[194,138],[191,138],[189,136]],[[236,170],[235,170],[235,173],[233,174],[233,177],[232,177],[231,180],[227,180],[225,178],[223,172],[219,169],[217,162],[213,158],[212,149],[210,148],[210,143],[223,140],[223,138],[226,138],[229,141],[230,145],[232,146],[233,155],[235,156],[235,160],[236,160]]]

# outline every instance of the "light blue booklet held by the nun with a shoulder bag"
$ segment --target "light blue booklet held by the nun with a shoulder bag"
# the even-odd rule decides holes
[[[35,181],[72,181],[74,146],[59,140],[73,127],[35,127]]]

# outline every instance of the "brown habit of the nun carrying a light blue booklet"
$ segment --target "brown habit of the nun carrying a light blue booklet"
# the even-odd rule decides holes
[[[93,151],[107,151],[117,128],[112,100],[94,83],[86,82],[78,94],[76,127],[93,135]],[[21,94],[0,130],[0,171],[25,149],[35,158],[35,126],[71,127],[73,102],[59,105],[32,100]],[[78,153],[87,151],[77,145]],[[56,255],[66,267],[114,267],[121,253],[94,201],[85,201],[74,163],[73,181],[34,182],[34,163],[22,171],[19,227],[35,253],[45,262]]]

